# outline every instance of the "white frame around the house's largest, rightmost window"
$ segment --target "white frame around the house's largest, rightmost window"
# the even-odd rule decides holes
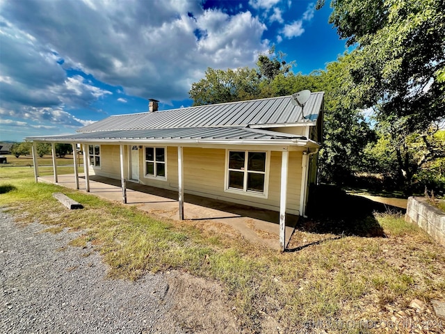
[[[229,152],[244,152],[245,154],[245,161],[244,161],[244,180],[243,180],[243,189],[236,189],[236,188],[229,188],[229,170],[232,170],[229,168]],[[249,152],[261,152],[266,153],[266,161],[265,161],[265,170],[264,170],[264,191],[252,191],[247,190],[247,180],[248,180],[248,172],[247,169],[248,166],[248,156]],[[269,190],[269,172],[270,172],[270,151],[268,150],[237,150],[237,149],[226,149],[225,150],[225,175],[224,175],[224,191],[226,193],[237,193],[240,195],[245,196],[252,196],[252,197],[258,197],[258,198],[268,198],[268,190]],[[239,170],[236,170],[239,171]],[[257,171],[254,171],[254,173],[257,173]]]

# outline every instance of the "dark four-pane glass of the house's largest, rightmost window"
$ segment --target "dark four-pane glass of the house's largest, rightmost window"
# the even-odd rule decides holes
[[[229,151],[227,190],[266,195],[266,152]]]

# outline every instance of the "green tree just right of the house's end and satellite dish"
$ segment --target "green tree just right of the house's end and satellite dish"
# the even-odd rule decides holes
[[[359,101],[348,94],[354,86],[349,72],[351,61],[344,55],[327,64],[319,84],[325,90],[321,180],[339,185],[348,183],[353,173],[362,169],[364,148],[375,140]]]

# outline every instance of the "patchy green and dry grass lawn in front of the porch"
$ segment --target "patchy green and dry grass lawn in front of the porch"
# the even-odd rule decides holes
[[[305,220],[280,253],[202,223],[160,220],[131,205],[35,184],[29,169],[15,168],[21,177],[0,175],[0,206],[17,221],[83,231],[71,246],[95,245],[113,278],[178,269],[217,280],[245,333],[264,333],[266,319],[282,333],[382,333],[382,325],[401,333],[405,319],[439,328],[429,303],[445,301],[444,248],[401,214],[359,218],[346,232],[340,221]],[[67,210],[52,198],[56,191],[85,209]],[[369,226],[378,232],[360,233]]]

